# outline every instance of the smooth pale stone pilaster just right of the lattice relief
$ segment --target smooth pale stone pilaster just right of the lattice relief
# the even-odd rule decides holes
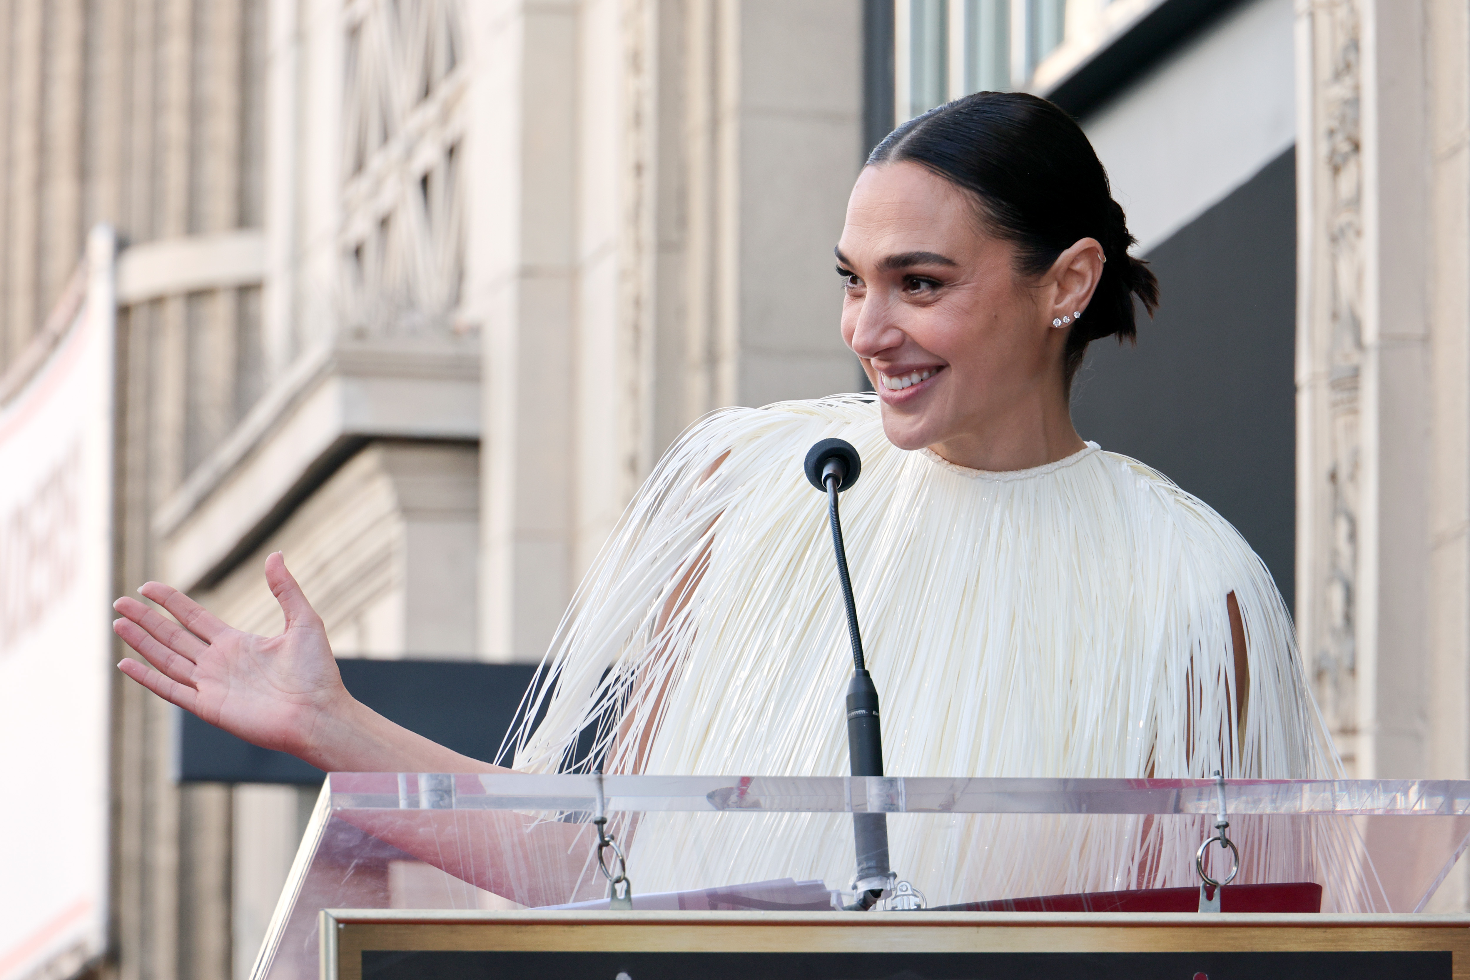
[[[576,15],[548,0],[465,4],[476,60],[465,313],[484,342],[488,660],[539,658],[570,597]]]

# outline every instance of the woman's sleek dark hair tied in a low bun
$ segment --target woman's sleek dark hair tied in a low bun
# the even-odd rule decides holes
[[[1069,389],[1089,342],[1136,339],[1133,297],[1150,316],[1158,307],[1158,281],[1147,262],[1127,254],[1135,239],[1107,170],[1058,106],[1025,93],[956,98],[898,126],[867,157],[869,166],[904,160],[973,194],[986,231],[1017,247],[1022,275],[1041,275],[1082,238],[1102,245],[1102,279],[1067,334]]]

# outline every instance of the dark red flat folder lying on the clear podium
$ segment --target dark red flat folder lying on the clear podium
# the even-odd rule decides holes
[[[1083,892],[1041,895],[995,902],[963,902],[933,909],[942,912],[1198,912],[1200,889],[1151,887],[1132,892]],[[1222,912],[1320,912],[1322,886],[1316,882],[1286,884],[1226,884]]]

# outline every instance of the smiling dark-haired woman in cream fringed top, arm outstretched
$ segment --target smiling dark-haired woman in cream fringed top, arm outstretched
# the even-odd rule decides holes
[[[980,93],[889,135],[836,247],[842,335],[876,400],[731,408],[679,439],[567,610],[512,741],[514,767],[845,770],[850,661],[823,505],[801,470],[807,447],[841,436],[863,455],[845,532],[888,773],[1333,774],[1260,558],[1202,501],[1072,426],[1086,344],[1132,338],[1135,297],[1157,301],[1130,242],[1102,166],[1050,103]],[[157,583],[144,595],[182,626],[119,599],[119,635],[156,669],[123,670],[322,768],[492,768],[357,704],[279,555],[266,574],[288,624],[272,639]],[[813,855],[845,883],[839,820],[792,815],[773,840],[738,814],[686,817],[639,823],[629,862],[641,889],[776,879]],[[973,837],[947,842],[1005,832],[967,820]],[[1308,867],[1294,829],[1252,827],[1239,882],[1330,874]],[[1202,824],[1141,823],[1050,857],[957,855],[916,830],[894,826],[894,864],[941,904],[1192,884],[1202,839]]]

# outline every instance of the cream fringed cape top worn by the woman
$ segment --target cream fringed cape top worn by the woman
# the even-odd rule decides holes
[[[885,771],[1335,774],[1282,599],[1219,514],[1091,444],[1011,473],[901,451],[858,395],[720,411],[664,455],[557,632],[516,768],[847,773],[853,661],[826,501],[801,470],[828,436],[863,457],[842,523]],[[1244,723],[1230,592],[1248,648]],[[1194,884],[1207,836],[1182,818],[889,823],[894,868],[932,902]],[[1045,848],[1025,839],[1036,833]],[[1301,827],[1276,818],[1254,835],[1241,882],[1320,880],[1323,845]],[[650,815],[629,854],[642,892],[788,876],[845,886],[851,867],[839,815]]]

